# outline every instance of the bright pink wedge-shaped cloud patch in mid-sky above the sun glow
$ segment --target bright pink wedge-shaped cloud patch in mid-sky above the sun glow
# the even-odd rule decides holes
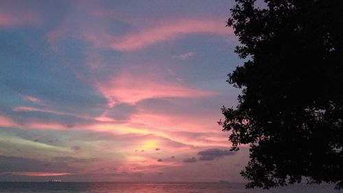
[[[97,83],[95,87],[107,98],[109,106],[122,102],[135,104],[149,98],[199,98],[213,95],[178,82],[167,82],[154,74],[141,73],[143,75],[124,72],[108,82]]]

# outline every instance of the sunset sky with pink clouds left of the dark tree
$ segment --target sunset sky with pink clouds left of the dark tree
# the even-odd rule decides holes
[[[233,1],[0,2],[0,181],[243,181]]]

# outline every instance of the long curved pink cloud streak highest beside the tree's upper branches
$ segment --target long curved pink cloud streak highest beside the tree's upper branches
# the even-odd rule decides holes
[[[225,27],[224,22],[221,21],[220,19],[180,19],[176,21],[165,21],[156,27],[117,38],[111,47],[122,52],[130,52],[162,41],[169,41],[181,34],[231,34],[232,30]]]

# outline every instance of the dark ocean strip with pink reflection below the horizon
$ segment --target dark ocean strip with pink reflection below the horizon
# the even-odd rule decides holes
[[[289,185],[272,190],[245,189],[244,183],[0,182],[1,193],[338,193],[334,185]]]

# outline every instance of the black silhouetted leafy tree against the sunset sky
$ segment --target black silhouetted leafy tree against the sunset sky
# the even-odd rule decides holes
[[[250,145],[248,188],[336,183],[343,188],[343,1],[236,0],[227,21],[244,65],[223,107],[232,150]]]

